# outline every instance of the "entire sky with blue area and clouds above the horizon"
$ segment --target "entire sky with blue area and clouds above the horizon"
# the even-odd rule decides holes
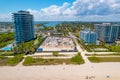
[[[35,21],[120,21],[120,0],[0,0],[0,21],[19,10]]]

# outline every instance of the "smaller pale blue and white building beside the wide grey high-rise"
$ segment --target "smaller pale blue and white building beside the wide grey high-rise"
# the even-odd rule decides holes
[[[91,30],[80,31],[80,38],[87,44],[96,44],[97,37],[97,34]]]

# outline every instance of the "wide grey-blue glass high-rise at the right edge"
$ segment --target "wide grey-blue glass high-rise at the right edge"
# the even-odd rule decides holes
[[[95,32],[98,33],[98,39],[106,43],[114,43],[119,35],[119,25],[111,23],[95,24]]]

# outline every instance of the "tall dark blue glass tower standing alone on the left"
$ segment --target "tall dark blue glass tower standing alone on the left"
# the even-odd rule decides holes
[[[13,13],[16,43],[34,39],[33,15],[28,11]]]

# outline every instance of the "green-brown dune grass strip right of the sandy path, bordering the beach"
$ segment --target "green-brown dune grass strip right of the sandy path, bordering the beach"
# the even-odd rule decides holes
[[[88,57],[88,59],[93,63],[99,62],[120,62],[120,57]]]

